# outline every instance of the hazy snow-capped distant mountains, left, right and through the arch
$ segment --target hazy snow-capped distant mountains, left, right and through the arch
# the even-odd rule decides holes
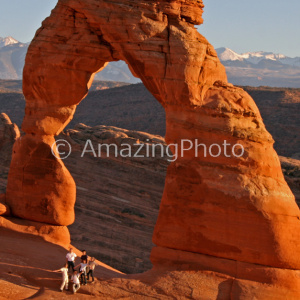
[[[0,38],[0,79],[22,78],[28,45],[12,37]],[[229,48],[216,51],[226,67],[229,82],[235,85],[300,88],[300,57],[263,51],[238,54]],[[96,79],[140,82],[124,61],[109,63]]]

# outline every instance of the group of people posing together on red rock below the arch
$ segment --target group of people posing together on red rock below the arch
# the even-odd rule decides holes
[[[66,255],[66,264],[58,270],[54,272],[62,272],[62,284],[60,286],[60,291],[62,292],[64,289],[69,289],[69,279],[72,282],[72,290],[75,294],[79,289],[80,285],[86,285],[92,278],[92,282],[94,282],[94,270],[98,265],[95,261],[94,257],[89,257],[86,254],[85,250],[82,250],[82,255],[80,257],[81,263],[75,266],[77,255],[72,248]],[[78,268],[78,269],[77,269]],[[70,269],[72,270],[71,278],[69,278]]]

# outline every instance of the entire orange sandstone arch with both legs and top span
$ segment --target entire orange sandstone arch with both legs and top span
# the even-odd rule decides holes
[[[226,140],[245,148],[240,158],[197,158],[193,148],[170,165],[154,264],[196,260],[208,268],[202,256],[191,257],[199,253],[209,255],[206,261],[300,268],[299,209],[273,139],[254,101],[227,83],[215,50],[195,29],[202,8],[199,0],[59,0],[26,57],[26,135],[14,146],[6,194],[15,216],[55,225],[74,221],[75,183],[51,154],[54,135],[71,120],[93,74],[124,60],[165,108],[168,143]],[[238,276],[241,265],[229,265],[218,268]],[[291,274],[262,272],[262,282],[276,284]]]

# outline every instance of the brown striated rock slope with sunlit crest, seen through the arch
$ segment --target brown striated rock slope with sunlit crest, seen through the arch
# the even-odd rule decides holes
[[[156,149],[155,157],[149,158],[115,157],[113,148],[109,157],[105,148],[98,157],[97,145],[116,144],[121,150],[121,144],[138,143],[144,145],[139,155],[145,156],[146,146],[150,149],[154,144],[163,144],[165,148],[164,139],[142,132],[83,124],[58,138],[72,145],[72,154],[64,160],[77,187],[76,220],[69,227],[72,243],[123,272],[149,270],[151,239],[164,188],[167,158],[161,157],[161,147]],[[97,157],[91,152],[81,157],[87,140],[92,141]],[[133,154],[140,146],[133,146]]]

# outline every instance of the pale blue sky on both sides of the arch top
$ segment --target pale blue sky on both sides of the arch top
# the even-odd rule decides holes
[[[30,41],[57,0],[0,0],[0,36]],[[299,0],[204,0],[199,31],[214,46],[236,52],[300,56]]]

